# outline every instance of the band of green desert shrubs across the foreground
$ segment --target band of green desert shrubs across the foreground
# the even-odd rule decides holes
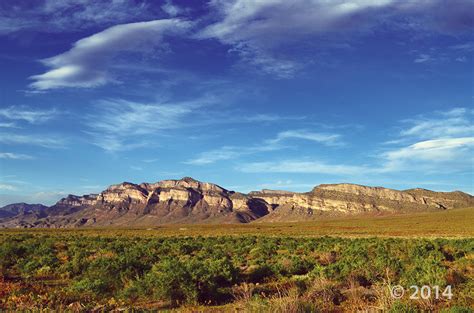
[[[473,256],[472,239],[0,234],[3,279],[17,284],[0,286],[0,300],[11,296],[29,301],[30,307],[57,308],[60,303],[78,310],[118,307],[115,301],[126,303],[121,307],[151,301],[220,304],[232,301],[238,286],[252,284],[247,301],[258,305],[249,310],[304,311],[305,303],[313,303],[308,308],[340,311],[380,301],[383,295],[374,290],[389,282],[405,287],[451,284],[456,297],[449,305],[453,312],[464,312],[472,304]],[[275,298],[290,285],[297,294]],[[361,292],[349,294],[351,288]],[[383,307],[388,310],[392,302],[388,298]],[[392,312],[409,312],[417,304],[423,309],[423,304],[409,304],[396,302]],[[430,308],[443,305],[433,302]]]

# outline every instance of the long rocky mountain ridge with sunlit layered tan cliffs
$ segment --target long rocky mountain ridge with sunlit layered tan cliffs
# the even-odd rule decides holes
[[[100,194],[69,195],[38,212],[0,219],[3,227],[139,226],[163,223],[298,221],[320,216],[412,212],[474,206],[471,195],[423,189],[398,191],[353,184],[320,185],[307,193],[236,193],[185,177],[149,184],[124,182]]]

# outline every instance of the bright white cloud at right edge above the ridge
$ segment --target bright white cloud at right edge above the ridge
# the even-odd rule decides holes
[[[472,110],[454,108],[402,121],[404,128],[391,141],[398,146],[380,155],[384,160],[382,171],[472,170],[472,118]]]

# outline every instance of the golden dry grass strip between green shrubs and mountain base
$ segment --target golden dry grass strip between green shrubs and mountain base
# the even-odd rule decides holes
[[[309,222],[163,225],[152,228],[2,229],[1,233],[83,234],[91,236],[339,236],[474,237],[474,208],[389,216],[357,216]]]

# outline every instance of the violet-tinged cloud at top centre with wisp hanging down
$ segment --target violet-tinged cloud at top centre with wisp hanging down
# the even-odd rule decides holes
[[[281,47],[292,46],[302,37],[337,30],[360,32],[374,20],[352,16],[370,9],[385,8],[395,0],[285,1],[234,0],[210,2],[217,21],[208,25],[198,38],[215,38],[231,45],[246,64],[276,78],[291,78],[305,63],[288,58]],[[354,25],[357,24],[357,25]]]

